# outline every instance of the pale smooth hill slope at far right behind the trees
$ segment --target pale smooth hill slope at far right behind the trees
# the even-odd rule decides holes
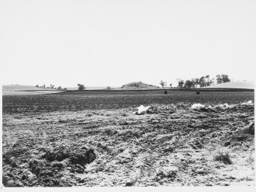
[[[254,89],[254,82],[227,82],[217,85],[211,85],[204,88],[248,88],[248,89]]]

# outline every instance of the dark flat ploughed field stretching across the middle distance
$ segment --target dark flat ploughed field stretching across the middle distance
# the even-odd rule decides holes
[[[254,91],[70,91],[2,97],[4,114],[66,110],[119,110],[141,104],[239,104],[254,101]]]

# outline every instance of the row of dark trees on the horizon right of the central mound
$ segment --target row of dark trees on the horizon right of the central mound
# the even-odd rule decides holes
[[[209,75],[206,76],[202,76],[200,78],[192,78],[192,79],[188,79],[188,80],[183,80],[180,78],[177,78],[177,88],[203,88],[206,86],[210,86],[210,85],[215,85],[216,84],[222,84],[225,82],[230,82],[231,79],[228,78],[228,75],[216,75],[215,78],[210,78]],[[167,87],[167,82],[164,81],[160,81],[160,85],[162,86],[162,88],[166,88]],[[172,83],[170,83],[170,88],[172,87]]]

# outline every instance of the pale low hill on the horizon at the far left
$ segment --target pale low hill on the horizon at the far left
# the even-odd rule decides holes
[[[60,92],[52,88],[37,88],[31,85],[2,85],[2,95],[50,94]]]

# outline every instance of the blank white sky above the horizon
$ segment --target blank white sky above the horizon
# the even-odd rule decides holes
[[[254,0],[1,0],[3,85],[252,80]]]

